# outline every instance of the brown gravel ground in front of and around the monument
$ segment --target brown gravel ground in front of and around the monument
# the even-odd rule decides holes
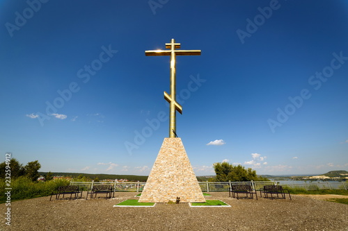
[[[116,198],[54,200],[49,197],[11,203],[11,226],[0,230],[348,230],[348,205],[293,195],[293,200],[229,198],[211,193],[232,207],[113,207],[136,193]],[[85,196],[85,195],[84,195]],[[6,205],[0,205],[4,216]]]

